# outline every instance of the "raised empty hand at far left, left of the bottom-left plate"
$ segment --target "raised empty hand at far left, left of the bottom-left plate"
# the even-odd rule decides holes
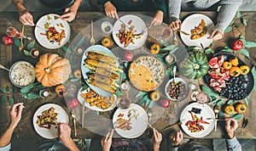
[[[21,113],[23,110],[23,103],[15,103],[13,107],[9,110],[9,115],[11,117],[10,126],[16,127],[21,119]]]

